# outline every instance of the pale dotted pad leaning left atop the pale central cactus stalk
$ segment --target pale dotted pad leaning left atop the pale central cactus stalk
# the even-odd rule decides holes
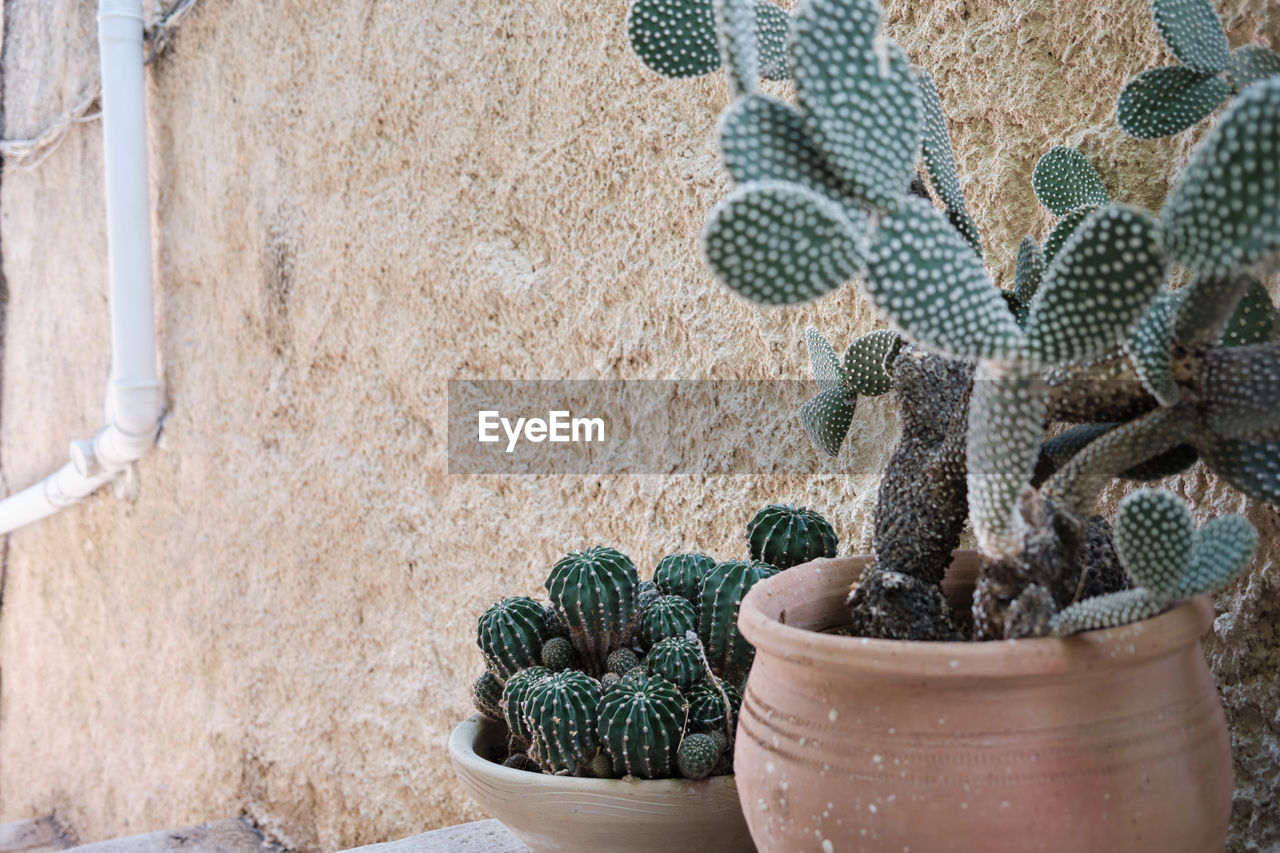
[[[881,218],[865,292],[882,316],[927,347],[963,359],[1009,359],[1023,346],[982,261],[928,201],[904,197]]]

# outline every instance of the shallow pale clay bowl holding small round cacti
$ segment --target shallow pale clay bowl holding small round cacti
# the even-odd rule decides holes
[[[471,798],[534,853],[751,853],[732,776],[579,779],[512,770],[488,756],[507,727],[479,713],[449,736],[453,770]]]

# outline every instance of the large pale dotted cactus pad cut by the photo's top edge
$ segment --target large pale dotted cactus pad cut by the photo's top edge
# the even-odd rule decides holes
[[[902,49],[876,40],[874,0],[810,0],[791,35],[796,97],[832,169],[868,204],[906,192],[920,138],[920,93]]]

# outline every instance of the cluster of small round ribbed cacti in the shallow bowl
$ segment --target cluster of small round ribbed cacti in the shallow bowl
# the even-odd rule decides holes
[[[507,725],[504,763],[611,779],[732,772],[755,654],[737,630],[742,598],[837,546],[820,515],[782,505],[760,510],[746,540],[750,560],[668,555],[652,580],[613,548],[573,552],[547,578],[549,605],[515,596],[481,613],[472,699]]]

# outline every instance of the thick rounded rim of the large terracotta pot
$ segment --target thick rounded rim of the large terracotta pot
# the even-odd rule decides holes
[[[957,557],[961,552],[957,552]],[[854,560],[867,561],[869,556]],[[781,657],[805,666],[838,667],[841,671],[884,678],[973,679],[1059,676],[1098,666],[1125,666],[1197,642],[1213,624],[1213,605],[1207,596],[1188,599],[1152,619],[1119,628],[1085,631],[1069,638],[1038,637],[988,643],[886,640],[841,637],[787,625],[781,619],[804,599],[805,587],[844,575],[847,588],[850,557],[813,560],[753,587],[739,611],[739,629],[756,647],[758,654]]]

